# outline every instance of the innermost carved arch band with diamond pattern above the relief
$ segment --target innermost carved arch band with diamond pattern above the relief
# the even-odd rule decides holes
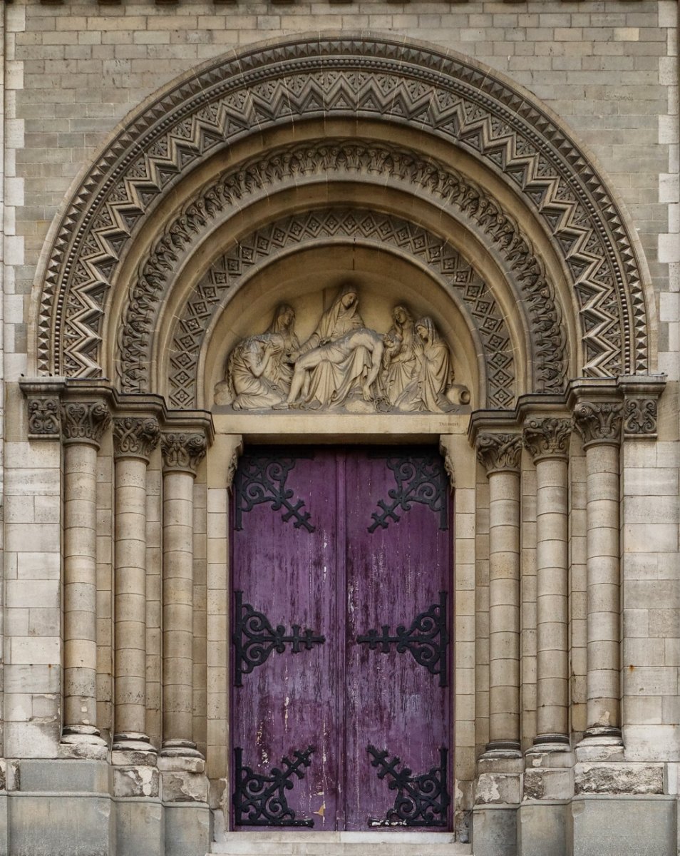
[[[488,371],[488,407],[511,407],[515,366],[510,336],[500,307],[485,282],[442,239],[399,217],[358,209],[307,211],[271,223],[238,245],[210,268],[186,304],[170,346],[169,400],[173,407],[196,401],[196,366],[204,331],[229,291],[253,265],[286,247],[319,238],[375,241],[421,259],[459,295],[482,338]]]

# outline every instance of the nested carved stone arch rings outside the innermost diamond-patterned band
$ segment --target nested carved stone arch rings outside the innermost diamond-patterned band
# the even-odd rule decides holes
[[[488,318],[470,313],[487,387],[501,350],[517,363],[513,397],[652,367],[642,251],[558,119],[451,52],[316,34],[210,61],[121,123],[50,232],[36,371],[167,393],[173,369],[158,343],[179,341],[210,265],[242,255],[285,217],[346,209],[362,193],[385,223],[400,218],[421,235],[420,262],[439,265],[444,280],[458,253],[487,283],[495,346]],[[444,248],[441,259],[428,242]],[[511,404],[494,403],[489,387],[480,401]]]

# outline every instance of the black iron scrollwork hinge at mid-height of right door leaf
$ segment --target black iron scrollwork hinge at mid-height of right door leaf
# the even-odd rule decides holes
[[[358,636],[360,645],[368,645],[371,651],[380,646],[381,654],[387,654],[390,645],[397,646],[397,653],[409,651],[416,663],[424,666],[430,675],[439,675],[440,687],[447,687],[446,647],[448,633],[446,632],[446,591],[440,591],[439,603],[433,603],[424,612],[411,621],[408,630],[403,624],[397,627],[396,633],[390,635],[389,625],[383,624],[381,633],[370,630],[363,636]]]

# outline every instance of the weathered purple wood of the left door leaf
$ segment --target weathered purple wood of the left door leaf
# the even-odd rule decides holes
[[[281,484],[281,471],[291,464]],[[328,485],[333,489],[328,490]],[[298,458],[281,450],[247,455],[237,473],[234,517],[241,528],[234,528],[233,534],[234,591],[242,591],[243,602],[266,615],[271,627],[281,625],[286,634],[292,634],[295,624],[302,633],[310,629],[327,640],[310,649],[301,645],[295,653],[293,644],[286,643],[282,651],[271,651],[251,674],[243,675],[242,687],[234,687],[234,746],[242,748],[242,763],[254,775],[270,776],[272,770],[282,770],[284,758],[294,763],[295,752],[314,749],[309,767],[302,765],[288,776],[292,788],[281,792],[271,783],[252,783],[256,799],[242,801],[244,811],[234,821],[255,828],[266,828],[277,819],[290,825],[292,818],[281,818],[285,811],[277,811],[281,796],[297,820],[313,819],[314,829],[334,829],[338,813],[338,701],[329,687],[337,686],[339,663],[337,651],[328,644],[328,631],[339,622],[338,600],[329,595],[337,568],[334,485],[334,456],[323,454]],[[246,511],[249,495],[275,499],[257,502]],[[280,507],[281,495],[289,496],[287,505]],[[289,508],[299,502],[304,507],[285,520]],[[307,524],[313,531],[295,525],[305,514],[310,515]],[[234,609],[236,605],[234,597]],[[238,617],[234,615],[235,620]],[[260,630],[260,636],[268,635],[254,629]],[[240,635],[244,639],[245,634]],[[235,655],[236,651],[234,675]],[[253,656],[257,658],[257,651]],[[273,800],[258,800],[260,787],[269,788]],[[259,805],[263,812],[253,814],[251,808]]]

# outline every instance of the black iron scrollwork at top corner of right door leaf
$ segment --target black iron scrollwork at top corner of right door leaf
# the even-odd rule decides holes
[[[373,523],[369,532],[378,526],[387,529],[389,522],[399,523],[397,509],[410,511],[413,502],[427,505],[439,514],[440,529],[448,529],[448,479],[441,459],[437,455],[408,455],[388,457],[387,467],[394,474],[396,488],[387,491],[390,502],[378,500],[380,511],[371,514]]]

